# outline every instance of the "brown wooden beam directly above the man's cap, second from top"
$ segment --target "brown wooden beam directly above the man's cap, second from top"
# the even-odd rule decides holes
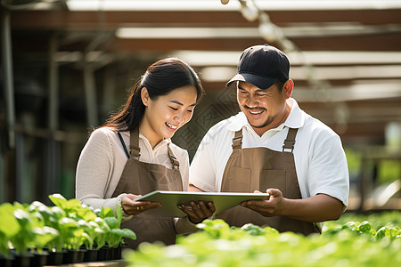
[[[301,51],[399,51],[401,32],[369,36],[316,36],[291,38]],[[174,50],[242,51],[254,44],[265,44],[260,38],[224,39],[114,39],[108,47],[111,52],[157,51],[168,53]],[[274,44],[274,43],[272,43]]]

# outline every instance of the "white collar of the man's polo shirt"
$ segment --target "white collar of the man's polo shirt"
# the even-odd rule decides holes
[[[295,101],[293,98],[290,98],[287,101],[290,101],[292,104],[290,115],[281,125],[278,125],[276,128],[270,129],[267,132],[281,131],[282,129],[284,129],[285,126],[289,128],[300,128],[305,124],[305,113],[301,109],[299,109],[298,102]],[[231,124],[228,125],[228,130],[237,132],[243,127],[246,127],[246,129],[250,133],[256,134],[255,130],[252,128],[252,126],[248,122],[247,117],[242,111],[239,113],[239,116],[239,119],[233,120]]]

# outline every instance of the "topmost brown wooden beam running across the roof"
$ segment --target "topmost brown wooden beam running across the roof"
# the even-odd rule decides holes
[[[364,25],[400,24],[401,9],[394,10],[325,10],[325,11],[266,11],[271,20],[285,26],[293,23],[356,22]],[[12,28],[119,28],[174,25],[186,27],[252,27],[258,21],[245,20],[241,12],[70,12],[15,11]]]

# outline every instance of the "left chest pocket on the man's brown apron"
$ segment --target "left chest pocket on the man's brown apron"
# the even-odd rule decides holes
[[[227,178],[228,184],[222,186],[222,191],[250,192],[250,169],[232,167]],[[228,188],[226,188],[227,185]]]

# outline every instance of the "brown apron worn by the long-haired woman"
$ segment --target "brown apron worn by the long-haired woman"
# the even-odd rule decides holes
[[[121,193],[144,195],[153,190],[183,190],[179,162],[176,160],[169,145],[168,157],[171,160],[173,169],[139,161],[141,154],[138,130],[130,133],[129,154],[120,134],[119,138],[124,150],[126,150],[128,159],[112,198],[119,196]],[[135,249],[142,242],[161,241],[166,245],[176,243],[174,218],[171,217],[147,215],[146,212],[143,212],[142,214],[134,215],[127,222],[121,223],[121,228],[129,228],[135,231],[136,240],[125,240],[129,248]]]

